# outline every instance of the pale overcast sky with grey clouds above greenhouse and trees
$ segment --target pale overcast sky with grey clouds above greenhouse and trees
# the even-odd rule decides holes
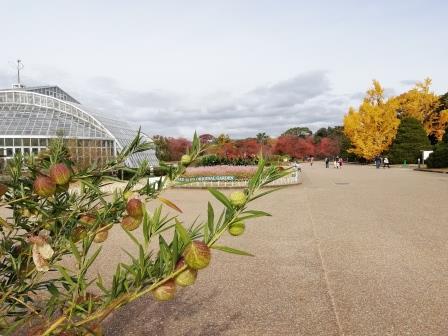
[[[151,134],[342,123],[372,79],[448,91],[448,1],[0,0],[0,86],[56,84]]]

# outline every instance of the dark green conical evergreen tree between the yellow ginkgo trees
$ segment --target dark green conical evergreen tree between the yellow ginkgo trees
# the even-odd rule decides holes
[[[389,150],[392,163],[417,163],[421,151],[431,148],[425,129],[415,118],[404,118],[398,126],[397,136]]]

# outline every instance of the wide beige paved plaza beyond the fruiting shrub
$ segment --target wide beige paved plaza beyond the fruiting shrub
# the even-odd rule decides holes
[[[211,198],[167,197],[187,220]],[[255,204],[272,218],[225,238],[255,258],[215,252],[194,287],[129,305],[108,334],[447,335],[447,200],[443,174],[305,166],[302,185]]]

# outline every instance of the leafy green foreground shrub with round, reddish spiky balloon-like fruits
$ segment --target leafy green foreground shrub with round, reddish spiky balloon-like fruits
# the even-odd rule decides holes
[[[11,214],[0,218],[2,334],[29,328],[30,335],[99,335],[101,322],[118,308],[147,294],[155,300],[171,300],[177,287],[193,285],[200,270],[212,262],[211,250],[251,255],[220,245],[219,239],[227,231],[241,235],[245,221],[269,216],[248,205],[274,191],[262,188],[289,172],[265,167],[260,157],[244,191],[226,196],[209,189],[222,210],[215,214],[208,203],[206,221],[187,226],[176,215],[164,214],[165,206],[181,210],[160,193],[176,185],[186,168],[200,159],[199,139],[194,136],[178,165],[163,166],[166,176],[142,185],[148,164],[129,169],[124,162],[149,146],[138,134],[104,166],[84,169],[73,164],[61,140],[54,141],[44,155],[14,158],[9,182],[0,185],[0,206]],[[104,191],[119,181],[111,175],[118,170],[132,177],[122,189]],[[156,199],[161,205],[150,213],[146,203]],[[92,276],[88,271],[111,229],[124,230],[137,252],[126,252],[129,262],[118,263],[112,282],[106,284],[101,274]],[[142,239],[134,230],[141,231]],[[173,238],[167,241],[166,236]],[[155,250],[150,248],[153,240],[158,242]],[[71,269],[67,260],[73,261]]]

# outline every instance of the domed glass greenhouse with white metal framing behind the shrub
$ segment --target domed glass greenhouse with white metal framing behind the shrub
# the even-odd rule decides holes
[[[15,153],[37,154],[60,136],[67,140],[75,160],[101,163],[136,134],[125,121],[87,110],[57,86],[0,90],[0,168]],[[154,149],[131,156],[126,164],[137,167],[143,160],[153,167],[159,164]]]

